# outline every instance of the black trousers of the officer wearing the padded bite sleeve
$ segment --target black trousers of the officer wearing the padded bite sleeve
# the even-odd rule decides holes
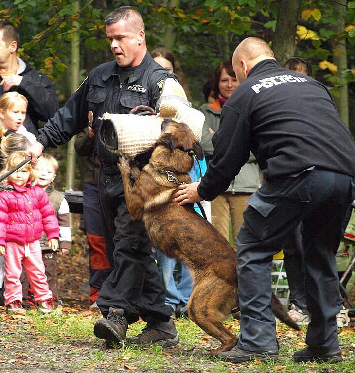
[[[98,188],[112,272],[101,287],[97,305],[104,316],[109,307],[123,308],[130,324],[140,316],[146,321],[168,321],[172,308],[165,305],[165,290],[151,256],[152,245],[143,223],[133,222],[129,215],[121,175],[101,167]]]

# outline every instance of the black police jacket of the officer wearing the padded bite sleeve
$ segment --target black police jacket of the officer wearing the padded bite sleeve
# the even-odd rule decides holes
[[[116,61],[94,68],[65,106],[49,119],[38,141],[45,148],[65,144],[88,125],[89,111],[93,112],[92,128],[97,132],[105,112],[128,114],[138,105],[155,107],[164,79],[173,76],[148,52],[128,81],[120,82],[120,71]],[[98,136],[95,143],[99,159],[106,165],[116,165],[117,155],[104,149]]]

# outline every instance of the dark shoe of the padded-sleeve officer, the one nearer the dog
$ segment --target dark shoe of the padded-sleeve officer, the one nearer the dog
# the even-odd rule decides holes
[[[127,343],[141,346],[149,346],[152,343],[157,343],[163,347],[175,346],[178,341],[179,335],[175,329],[173,319],[170,319],[168,322],[147,322],[141,334],[125,340]]]

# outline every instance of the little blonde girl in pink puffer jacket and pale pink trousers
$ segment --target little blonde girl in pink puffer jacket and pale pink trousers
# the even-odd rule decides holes
[[[4,172],[26,158],[24,152],[10,154]],[[58,247],[59,227],[53,206],[40,186],[34,185],[35,170],[28,164],[12,173],[0,187],[0,255],[5,255],[5,305],[8,314],[25,314],[20,275],[25,268],[38,303],[38,311],[53,309],[52,292],[44,274],[39,239],[43,229],[48,246]]]

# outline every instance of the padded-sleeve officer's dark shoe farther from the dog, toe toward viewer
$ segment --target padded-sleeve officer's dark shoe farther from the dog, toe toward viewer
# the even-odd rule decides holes
[[[107,317],[99,319],[94,325],[95,336],[105,339],[106,347],[115,347],[126,338],[128,322],[123,314],[122,308],[110,307]]]

